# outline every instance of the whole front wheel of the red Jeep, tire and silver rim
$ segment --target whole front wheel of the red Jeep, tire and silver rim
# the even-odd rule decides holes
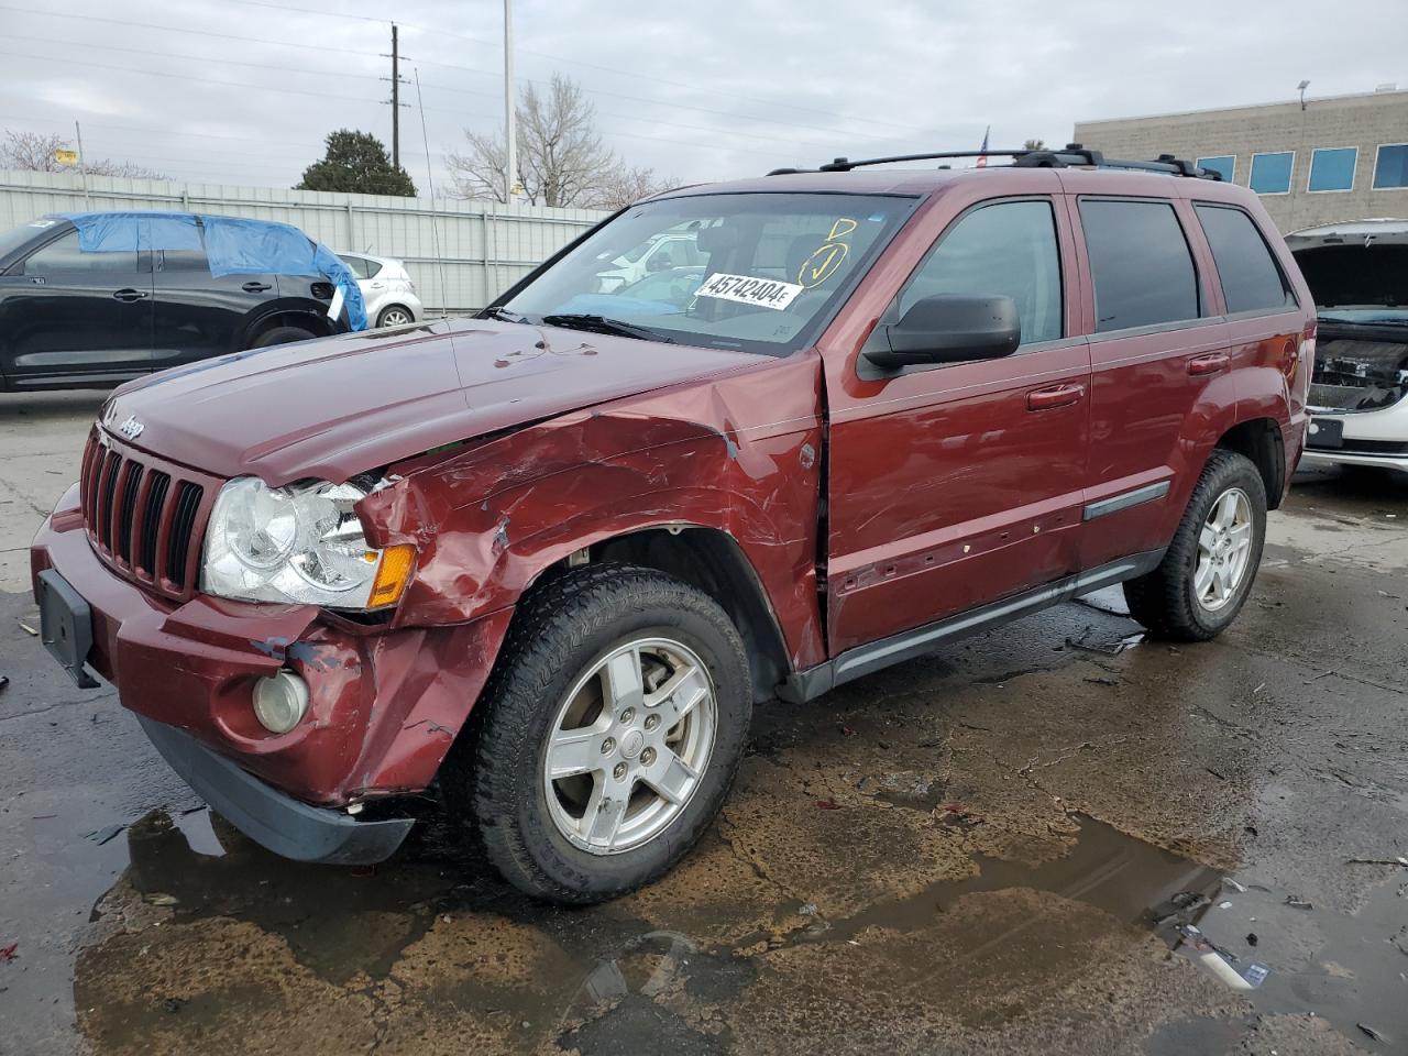
[[[631,696],[629,670],[643,696]],[[617,677],[621,690],[611,689]],[[666,696],[660,686],[676,690]],[[672,722],[669,708],[686,698],[693,710]],[[451,812],[511,884],[553,903],[600,903],[658,879],[704,834],[738,772],[750,718],[748,655],[712,598],[650,569],[593,565],[520,603],[441,784]],[[549,742],[560,777],[546,769]]]

